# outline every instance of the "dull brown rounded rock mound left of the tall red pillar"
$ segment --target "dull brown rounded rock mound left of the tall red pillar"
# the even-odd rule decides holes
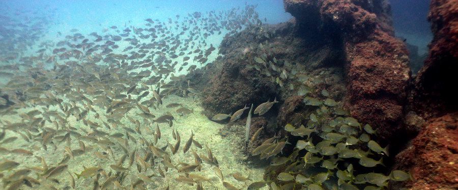
[[[300,33],[293,22],[285,22],[252,26],[225,36],[219,47],[219,53],[224,56],[216,59],[204,76],[210,79],[202,84],[204,114],[211,118],[215,113],[234,113],[245,104],[257,106],[267,100],[282,101],[291,96],[264,70],[249,67],[253,58],[261,53],[317,71],[324,65],[332,67],[339,62],[336,60],[341,59],[342,51],[334,45],[336,42],[314,31],[305,33]],[[260,43],[264,43],[264,48],[258,47]]]

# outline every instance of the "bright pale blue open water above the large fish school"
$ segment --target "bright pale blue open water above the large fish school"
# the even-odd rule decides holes
[[[176,15],[186,16],[193,12],[223,11],[244,8],[245,4],[257,5],[256,11],[263,22],[269,24],[288,21],[289,13],[283,9],[281,0],[254,1],[3,1],[8,12],[38,11],[52,16],[50,33],[67,32],[76,28],[81,33],[101,31],[110,26],[142,26],[145,19],[166,21]],[[54,13],[51,13],[54,12]],[[129,24],[130,22],[130,24]],[[53,33],[54,34],[54,33]]]

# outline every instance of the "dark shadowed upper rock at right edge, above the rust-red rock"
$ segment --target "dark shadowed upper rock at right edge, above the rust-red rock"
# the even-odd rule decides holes
[[[428,20],[434,39],[409,97],[409,109],[426,119],[458,110],[454,92],[458,81],[458,1],[431,1]]]

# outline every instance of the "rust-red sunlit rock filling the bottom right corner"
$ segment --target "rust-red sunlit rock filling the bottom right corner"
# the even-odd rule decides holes
[[[396,162],[412,174],[412,189],[457,189],[458,112],[428,121]]]

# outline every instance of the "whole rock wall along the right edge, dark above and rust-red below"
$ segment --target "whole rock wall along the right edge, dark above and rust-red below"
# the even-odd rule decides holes
[[[456,189],[458,1],[431,1],[428,20],[434,39],[424,66],[412,82],[407,108],[426,124],[417,126],[418,136],[396,156],[395,168],[412,173],[413,180],[405,184],[412,189]]]

